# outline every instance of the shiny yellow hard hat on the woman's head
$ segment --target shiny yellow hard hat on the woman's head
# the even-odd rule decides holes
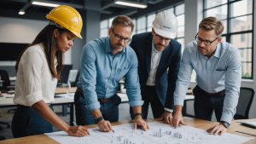
[[[52,9],[49,14],[46,14],[46,18],[55,21],[61,27],[67,28],[74,35],[83,39],[80,32],[83,27],[83,20],[81,15],[76,9],[67,5],[61,5]]]

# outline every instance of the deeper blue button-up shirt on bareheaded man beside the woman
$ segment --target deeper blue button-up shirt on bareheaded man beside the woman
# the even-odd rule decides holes
[[[86,43],[82,51],[81,75],[77,84],[83,89],[85,107],[90,111],[99,109],[101,105],[97,98],[106,99],[115,95],[119,80],[124,77],[130,106],[143,106],[137,66],[137,55],[128,44],[114,55],[109,37]]]

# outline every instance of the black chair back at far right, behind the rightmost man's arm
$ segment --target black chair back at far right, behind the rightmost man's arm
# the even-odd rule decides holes
[[[253,103],[255,90],[252,88],[240,88],[240,96],[236,107],[235,119],[248,119],[250,108]]]

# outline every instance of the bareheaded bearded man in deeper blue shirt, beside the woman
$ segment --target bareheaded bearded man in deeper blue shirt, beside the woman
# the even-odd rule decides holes
[[[137,55],[129,45],[134,25],[120,15],[113,19],[109,37],[86,43],[81,56],[81,75],[74,96],[77,124],[98,124],[102,131],[113,131],[119,120],[121,99],[116,95],[119,80],[125,77],[129,104],[135,112],[134,129],[149,129],[142,118],[142,96],[137,75]]]

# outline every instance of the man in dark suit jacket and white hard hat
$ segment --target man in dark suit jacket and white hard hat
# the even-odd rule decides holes
[[[143,96],[143,119],[149,103],[154,118],[172,123],[173,93],[180,66],[182,46],[177,35],[177,18],[171,11],[157,14],[152,32],[134,35],[131,48],[137,54],[138,74]],[[130,109],[131,118],[134,112]]]

